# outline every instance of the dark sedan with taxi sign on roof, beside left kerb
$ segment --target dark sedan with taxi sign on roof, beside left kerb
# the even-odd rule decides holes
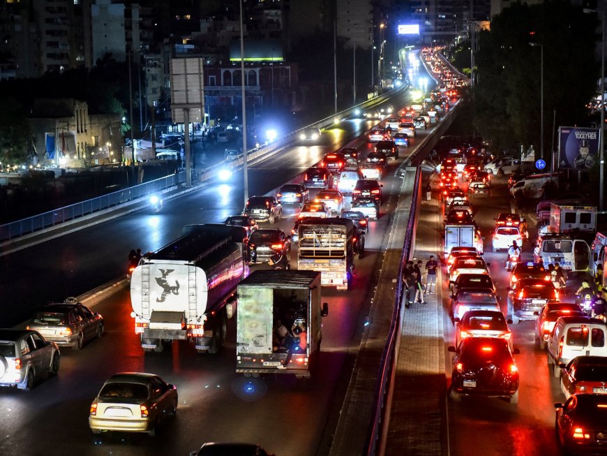
[[[68,297],[65,302],[40,307],[27,325],[58,346],[80,350],[85,342],[103,336],[103,316]]]

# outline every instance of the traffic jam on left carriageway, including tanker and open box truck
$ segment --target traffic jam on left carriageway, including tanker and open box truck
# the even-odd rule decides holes
[[[428,108],[436,112],[430,116]],[[142,351],[170,351],[187,340],[197,353],[218,353],[235,316],[238,374],[310,377],[329,314],[320,286],[352,290],[365,236],[387,214],[384,179],[447,109],[425,102],[384,108],[377,121],[364,121],[370,129],[357,147],[324,154],[271,194],[250,196],[223,223],[187,225],[157,251],[132,252],[126,279]],[[305,138],[306,145],[322,140],[320,131]],[[267,328],[265,337],[258,328]],[[0,383],[29,391],[58,374],[61,351],[87,351],[105,334],[104,317],[77,298],[49,303],[23,330],[0,331]],[[158,375],[103,380],[88,410],[93,434],[156,436],[177,414],[177,385]]]

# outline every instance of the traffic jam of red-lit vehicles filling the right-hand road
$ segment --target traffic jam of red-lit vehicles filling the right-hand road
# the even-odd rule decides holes
[[[443,304],[454,333],[446,340],[452,354],[449,398],[486,396],[518,404],[525,375],[516,362],[525,356],[519,346],[533,342],[559,383],[557,444],[572,452],[603,451],[606,236],[597,232],[597,208],[572,193],[541,200],[531,214],[537,226],[516,209],[496,213],[497,198],[515,205],[509,190],[517,182],[544,178],[494,168],[509,159],[497,160],[485,147],[463,140],[446,147],[431,180],[443,221]],[[532,332],[532,340],[517,340],[517,327],[527,336]]]

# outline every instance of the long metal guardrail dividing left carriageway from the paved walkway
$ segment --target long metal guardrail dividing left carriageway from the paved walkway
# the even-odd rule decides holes
[[[414,235],[417,230],[417,210],[419,201],[419,188],[421,185],[421,168],[420,163],[424,159],[424,149],[426,145],[435,139],[435,136],[439,131],[442,131],[446,124],[451,124],[453,119],[451,117],[456,112],[458,103],[454,105],[454,108],[447,112],[441,121],[440,126],[437,126],[435,130],[430,133],[424,141],[421,142],[417,151],[407,159],[407,164],[417,166],[414,177],[413,192],[411,195],[411,207],[409,211],[409,220],[407,221],[407,231],[405,233],[405,241],[403,242],[403,253],[400,256],[400,265],[398,266],[398,275],[396,276],[396,293],[394,298],[394,311],[392,313],[392,321],[388,332],[386,345],[382,352],[382,360],[380,363],[379,372],[377,372],[377,387],[375,388],[374,397],[375,404],[373,405],[373,413],[371,415],[371,422],[367,433],[367,444],[366,444],[366,455],[375,456],[378,454],[378,444],[380,443],[380,436],[382,435],[382,427],[387,422],[384,413],[386,411],[388,392],[390,387],[390,379],[396,363],[396,342],[398,341],[398,333],[400,332],[400,311],[403,298],[403,265],[409,260],[412,253],[412,244]]]

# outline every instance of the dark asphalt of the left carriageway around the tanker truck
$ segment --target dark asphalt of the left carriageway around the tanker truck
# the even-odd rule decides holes
[[[406,94],[401,92],[390,103],[402,108]],[[345,121],[340,128],[326,131],[319,145],[290,147],[253,166],[249,195],[275,191],[292,179],[301,182],[301,173],[325,153],[350,145],[375,123]],[[187,455],[205,441],[257,442],[279,456],[327,454],[381,269],[379,251],[388,226],[387,211],[394,208],[401,183],[395,171],[403,155],[410,154],[428,131],[419,134],[406,151],[401,148],[396,163],[389,163],[382,181],[382,216],[371,223],[366,236],[366,254],[357,260],[354,290],[323,288],[329,317],[324,319],[318,376],[310,381],[292,376],[250,381],[237,375],[233,319],[228,324],[227,345],[218,355],[197,355],[187,343],[144,355],[130,318],[130,297],[123,290],[93,308],[105,317],[104,337],[80,352],[62,349],[57,377],[31,392],[0,390],[0,454]],[[364,155],[373,149],[365,137],[354,144]],[[3,256],[3,325],[28,318],[37,304],[79,295],[121,276],[130,249],[154,251],[177,237],[188,223],[218,223],[238,214],[243,207],[239,182],[241,175],[224,184],[211,182],[168,200],[160,214],[135,212]],[[276,226],[290,233],[296,212],[286,207],[285,217]],[[156,438],[121,433],[93,436],[89,431],[91,401],[103,381],[117,372],[153,372],[177,385],[177,418]]]

